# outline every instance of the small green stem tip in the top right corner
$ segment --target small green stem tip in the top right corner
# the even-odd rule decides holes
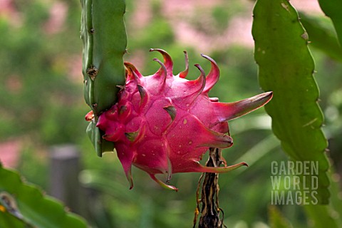
[[[318,0],[319,6],[326,16],[331,18],[335,26],[338,41],[342,45],[342,1],[341,0]]]

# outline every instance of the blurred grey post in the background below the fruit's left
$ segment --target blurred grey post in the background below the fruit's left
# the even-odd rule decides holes
[[[83,189],[78,181],[80,153],[75,145],[50,148],[50,192],[63,201],[72,212],[86,216]]]

